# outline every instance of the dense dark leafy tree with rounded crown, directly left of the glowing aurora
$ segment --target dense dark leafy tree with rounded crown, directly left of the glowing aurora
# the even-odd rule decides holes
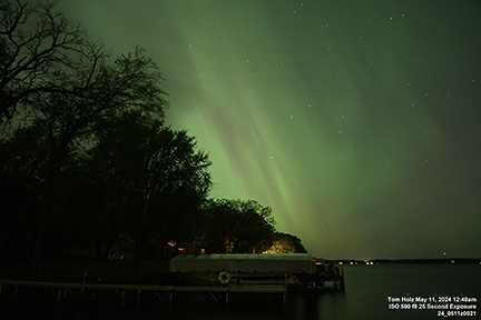
[[[179,239],[181,230],[192,227],[188,220],[195,218],[210,188],[210,162],[186,131],[128,113],[105,132],[94,152],[115,170],[108,186],[124,194],[136,261],[149,239]]]

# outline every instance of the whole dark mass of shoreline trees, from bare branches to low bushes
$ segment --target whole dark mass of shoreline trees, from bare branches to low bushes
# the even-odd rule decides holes
[[[298,240],[268,207],[208,198],[208,154],[165,124],[164,78],[144,49],[114,58],[52,2],[2,1],[0,21],[3,257],[36,268],[72,247],[106,259],[121,241],[140,261],[169,240],[207,252]]]

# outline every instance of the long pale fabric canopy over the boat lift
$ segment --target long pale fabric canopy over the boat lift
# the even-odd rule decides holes
[[[170,272],[259,272],[315,273],[315,260],[308,253],[224,253],[179,254],[170,260]]]

